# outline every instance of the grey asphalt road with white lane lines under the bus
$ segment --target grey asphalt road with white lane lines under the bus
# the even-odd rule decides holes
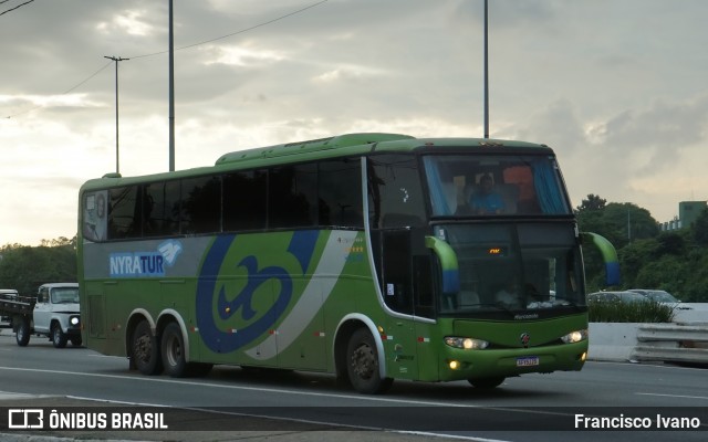
[[[420,441],[465,440],[662,441],[708,439],[708,382],[705,369],[668,365],[589,362],[581,372],[508,379],[493,391],[467,382],[395,382],[385,396],[367,397],[339,386],[329,375],[250,371],[217,367],[204,379],[144,377],[123,358],[85,348],[55,349],[33,339],[18,347],[0,333],[0,429],[10,409],[59,413],[96,410],[111,414],[159,406],[169,422],[162,431],[7,432],[96,440],[170,441]],[[119,410],[118,410],[119,408]],[[698,419],[690,431],[581,431],[577,414]],[[7,421],[6,421],[7,422]],[[667,421],[670,422],[670,421]],[[689,422],[696,422],[689,421]],[[200,431],[189,431],[197,429]],[[406,431],[407,430],[407,431]],[[33,436],[32,436],[33,438]]]

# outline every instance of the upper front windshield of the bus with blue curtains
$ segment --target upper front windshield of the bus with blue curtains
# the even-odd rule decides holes
[[[433,217],[572,214],[555,158],[426,156]]]

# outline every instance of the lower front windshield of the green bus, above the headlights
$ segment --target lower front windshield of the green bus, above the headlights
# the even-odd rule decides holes
[[[441,315],[544,314],[585,304],[582,259],[564,223],[437,224],[457,254],[460,290],[441,294]]]

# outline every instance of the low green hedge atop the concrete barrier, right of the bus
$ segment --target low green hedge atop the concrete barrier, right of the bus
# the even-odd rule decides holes
[[[587,305],[591,323],[670,323],[674,308],[654,302],[645,303],[597,303]]]

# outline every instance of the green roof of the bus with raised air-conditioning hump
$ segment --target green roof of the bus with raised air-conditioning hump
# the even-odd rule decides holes
[[[545,145],[490,138],[415,138],[402,134],[361,133],[329,138],[288,143],[275,146],[237,150],[222,155],[215,166],[198,167],[174,172],[160,172],[142,177],[122,177],[106,173],[103,178],[88,180],[82,188],[107,188],[131,183],[167,180],[180,177],[209,175],[230,169],[247,169],[275,164],[289,164],[323,158],[360,156],[372,152],[424,150],[467,150],[503,152],[504,150],[553,154]]]

